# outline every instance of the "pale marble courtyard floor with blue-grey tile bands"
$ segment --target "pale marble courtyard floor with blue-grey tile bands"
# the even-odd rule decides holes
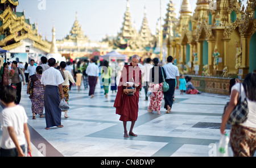
[[[196,95],[175,91],[172,113],[147,112],[150,101],[144,101],[142,89],[139,98],[139,117],[134,126],[138,137],[123,137],[123,124],[113,107],[115,94],[106,99],[103,89],[96,87],[94,98],[88,89],[72,87],[68,110],[69,118],[62,113],[63,128],[45,130],[45,118],[32,120],[31,101],[22,88],[20,105],[28,116],[33,147],[32,156],[65,157],[208,157],[216,156],[220,139],[220,123],[228,96],[202,93]],[[127,128],[130,127],[128,122]],[[226,132],[230,132],[227,127]],[[2,131],[0,131],[1,140]],[[229,148],[232,154],[231,148]]]

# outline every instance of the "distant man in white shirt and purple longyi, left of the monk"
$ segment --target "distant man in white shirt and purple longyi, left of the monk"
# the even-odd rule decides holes
[[[98,66],[96,65],[96,61],[92,59],[91,63],[86,68],[85,73],[88,75],[88,83],[89,83],[89,96],[90,98],[94,97],[94,90],[98,80]]]

